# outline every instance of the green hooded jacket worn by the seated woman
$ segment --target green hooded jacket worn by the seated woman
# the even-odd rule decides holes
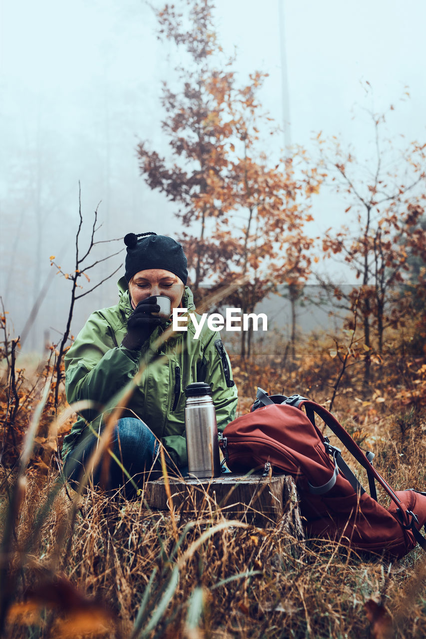
[[[219,431],[223,431],[226,424],[235,418],[237,388],[231,379],[228,355],[220,335],[207,328],[207,323],[200,337],[194,339],[195,328],[190,320],[187,332],[175,334],[158,351],[153,350],[152,343],[162,333],[161,327],[155,328],[141,352],[124,348],[121,343],[132,307],[124,278],[118,282],[118,288],[120,302],[92,313],[65,356],[67,401],[72,404],[89,399],[105,406],[116,392],[134,378],[139,370],[139,360],[144,361],[148,355],[148,365],[127,408],[134,411],[161,439],[173,461],[178,466],[185,466],[184,408],[188,384],[193,381],[210,384]],[[193,294],[187,286],[182,304],[194,312]],[[166,327],[170,324],[168,322]],[[157,353],[162,353],[164,357],[158,358]],[[97,427],[100,419],[100,412],[95,410],[81,412],[70,434],[64,439],[63,458],[74,448],[87,423],[97,420]]]

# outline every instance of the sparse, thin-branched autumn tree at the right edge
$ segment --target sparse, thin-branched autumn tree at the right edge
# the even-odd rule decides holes
[[[384,138],[388,113],[370,109],[368,117],[374,131],[374,156],[369,162],[359,160],[352,148],[344,149],[338,139],[327,150],[322,142],[324,164],[333,189],[343,196],[343,215],[349,218],[339,229],[327,230],[322,248],[326,258],[344,263],[359,282],[350,293],[340,286],[332,288],[348,309],[353,310],[358,300],[366,384],[372,348],[382,355],[386,327],[404,321],[400,288],[407,281],[410,256],[422,255],[426,240],[419,223],[426,197],[426,144],[412,142],[401,150],[394,139]]]

